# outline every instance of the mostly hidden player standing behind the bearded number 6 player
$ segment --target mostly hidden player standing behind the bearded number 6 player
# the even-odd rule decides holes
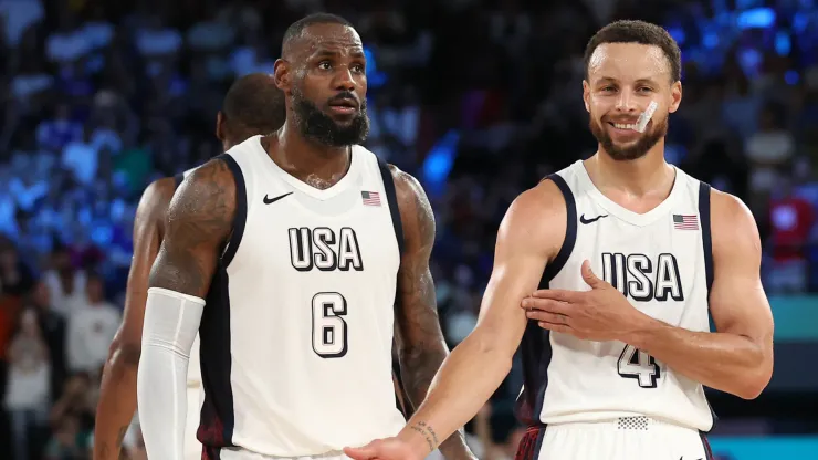
[[[275,132],[284,123],[283,94],[270,75],[250,74],[237,80],[228,91],[217,115],[216,136],[228,150],[248,137]],[[111,344],[103,372],[99,405],[94,430],[94,459],[119,458],[123,438],[136,409],[136,370],[141,351],[143,318],[150,266],[165,234],[165,213],[181,175],[154,181],[143,194],[134,221],[134,261],[128,274],[125,316]],[[198,357],[198,356],[197,356]],[[199,369],[188,373],[188,415],[186,442],[189,459],[201,458],[196,440],[199,415]],[[192,428],[190,428],[192,427]]]

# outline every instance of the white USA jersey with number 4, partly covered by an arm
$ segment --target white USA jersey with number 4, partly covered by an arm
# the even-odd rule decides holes
[[[710,186],[677,169],[668,198],[636,213],[605,197],[583,161],[550,176],[567,206],[565,242],[541,289],[588,291],[584,260],[642,313],[709,332],[713,280]],[[709,431],[713,414],[701,384],[621,342],[590,342],[529,322],[521,345],[525,386],[517,400],[528,424],[647,416]]]

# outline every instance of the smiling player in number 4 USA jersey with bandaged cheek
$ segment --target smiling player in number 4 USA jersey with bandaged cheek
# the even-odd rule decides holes
[[[512,203],[478,326],[398,437],[349,457],[424,458],[474,416],[518,347],[518,416],[531,426],[521,460],[711,458],[703,386],[751,399],[769,381],[753,216],[664,163],[682,98],[678,45],[657,25],[619,21],[590,39],[585,63],[597,154]]]

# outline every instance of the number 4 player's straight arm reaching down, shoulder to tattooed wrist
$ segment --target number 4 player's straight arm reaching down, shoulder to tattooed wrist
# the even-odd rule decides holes
[[[521,309],[565,238],[566,206],[543,181],[517,197],[497,233],[494,269],[474,331],[434,377],[423,404],[398,438],[423,458],[483,407],[511,370],[527,318]]]

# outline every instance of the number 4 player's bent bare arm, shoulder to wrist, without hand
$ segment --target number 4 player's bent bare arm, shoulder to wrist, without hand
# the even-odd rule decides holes
[[[773,375],[773,314],[759,276],[762,247],[755,220],[737,198],[712,191],[714,333],[643,320],[625,337],[673,370],[744,399],[757,397]]]

